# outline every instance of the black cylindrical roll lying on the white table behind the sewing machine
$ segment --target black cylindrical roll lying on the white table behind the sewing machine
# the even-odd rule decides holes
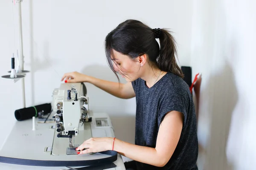
[[[29,108],[22,108],[15,111],[15,118],[18,121],[31,119],[33,116],[37,117],[38,112],[44,111],[44,115],[50,113],[52,110],[51,103],[45,103],[42,105],[36,105]]]

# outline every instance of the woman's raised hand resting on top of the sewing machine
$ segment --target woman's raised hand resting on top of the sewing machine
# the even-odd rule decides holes
[[[66,73],[61,78],[61,81],[65,79],[65,82],[87,82],[90,77],[84,74],[81,74],[77,71]]]

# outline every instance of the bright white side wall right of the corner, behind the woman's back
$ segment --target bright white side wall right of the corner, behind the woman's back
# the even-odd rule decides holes
[[[202,72],[201,170],[255,170],[256,1],[194,0],[191,65]]]

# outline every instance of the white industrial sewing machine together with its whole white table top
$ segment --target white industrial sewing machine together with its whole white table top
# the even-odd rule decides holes
[[[114,137],[108,114],[93,113],[86,92],[83,83],[63,83],[52,93],[49,118],[17,121],[0,150],[0,167],[59,170],[109,164],[105,169],[125,170],[115,151],[77,154],[75,148],[91,137]]]

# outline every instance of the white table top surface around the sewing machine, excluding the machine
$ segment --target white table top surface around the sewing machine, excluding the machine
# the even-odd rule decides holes
[[[52,115],[49,116],[49,119]],[[97,127],[95,119],[106,118],[108,126]],[[53,138],[55,135],[55,122],[38,123],[36,118],[36,130],[32,130],[32,119],[17,121],[12,128],[11,133],[6,138],[0,150],[0,156],[15,157],[20,159],[34,160],[57,160],[57,161],[77,161],[87,159],[100,159],[108,157],[107,155],[96,153],[94,155],[62,155],[53,156],[49,152],[44,152],[45,148],[52,147]],[[91,132],[93,137],[114,137],[113,126],[109,116],[106,113],[93,113],[91,122]],[[76,138],[75,138],[76,140]],[[67,143],[68,145],[68,143]],[[43,151],[44,150],[44,151]],[[97,155],[98,154],[98,155]],[[121,155],[117,155],[117,160],[113,162],[115,168],[108,170],[125,170],[125,166]],[[76,168],[76,167],[73,167]],[[77,167],[78,168],[78,167]],[[18,164],[7,164],[0,162],[0,169],[3,170],[68,170],[67,167],[39,167]]]

